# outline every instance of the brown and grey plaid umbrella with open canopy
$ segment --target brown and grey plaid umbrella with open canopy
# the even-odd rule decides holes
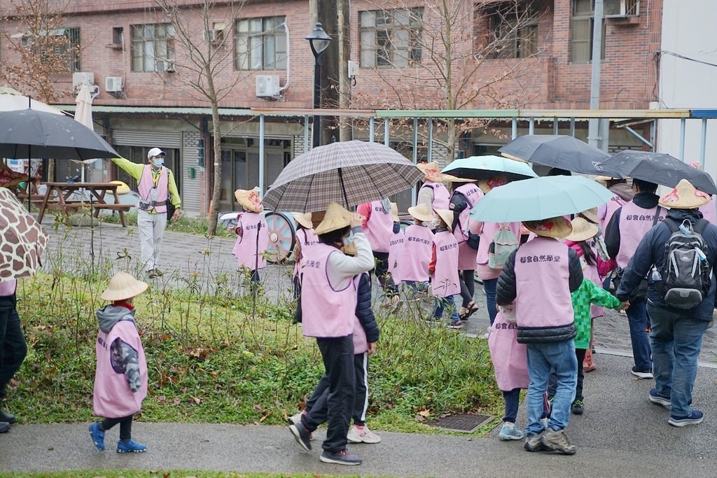
[[[332,201],[348,209],[404,191],[421,178],[416,165],[381,143],[331,143],[294,158],[262,203],[275,211],[326,211]]]

